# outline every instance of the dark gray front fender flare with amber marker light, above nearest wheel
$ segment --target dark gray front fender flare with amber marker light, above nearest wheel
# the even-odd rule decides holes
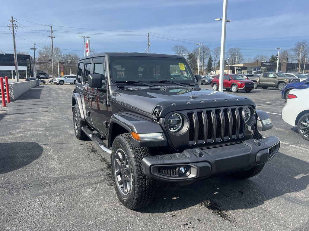
[[[147,117],[142,117],[141,115],[134,114],[133,112],[117,112],[112,115],[111,120],[108,126],[108,147],[112,147],[113,142],[113,126],[115,124],[120,125],[125,128],[128,132],[135,132],[138,134],[141,133],[161,133],[163,136],[162,140],[133,140],[133,143],[138,147],[159,147],[166,146],[167,139],[164,134],[163,129],[160,124],[156,123],[154,120],[151,120]]]

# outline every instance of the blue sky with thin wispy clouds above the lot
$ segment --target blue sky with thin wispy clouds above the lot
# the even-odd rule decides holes
[[[308,3],[229,0],[227,18],[232,22],[227,23],[226,51],[239,47],[245,59],[253,59],[256,54],[276,54],[275,47],[290,49],[298,41],[309,40]],[[204,43],[212,49],[220,46],[222,22],[214,19],[222,18],[222,5],[222,0],[5,1],[0,50],[12,53],[12,35],[6,26],[11,16],[20,23],[17,50],[29,50],[33,42],[38,48],[50,44],[49,26],[31,22],[53,25],[54,46],[68,49],[64,53],[77,50],[80,56],[83,39],[78,35],[90,36],[96,51],[145,52],[147,32],[152,53],[173,54],[171,47],[176,44],[192,50],[194,43]]]

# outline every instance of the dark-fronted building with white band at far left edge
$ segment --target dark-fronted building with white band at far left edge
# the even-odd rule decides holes
[[[19,77],[27,78],[33,76],[32,57],[30,55],[17,55]],[[0,77],[14,78],[15,61],[14,54],[0,54]]]

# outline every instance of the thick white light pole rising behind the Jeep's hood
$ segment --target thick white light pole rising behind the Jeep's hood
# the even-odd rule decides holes
[[[226,19],[227,14],[227,0],[223,0],[223,13],[222,18],[216,18],[216,21],[222,21],[221,30],[221,47],[220,47],[220,68],[219,68],[219,91],[223,91],[223,78],[224,78],[224,54],[225,54],[225,35],[226,35],[226,22],[231,22],[231,20]]]

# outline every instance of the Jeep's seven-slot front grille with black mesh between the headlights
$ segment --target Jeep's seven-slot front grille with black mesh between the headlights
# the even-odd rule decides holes
[[[243,108],[188,112],[189,145],[226,141],[244,136]]]

